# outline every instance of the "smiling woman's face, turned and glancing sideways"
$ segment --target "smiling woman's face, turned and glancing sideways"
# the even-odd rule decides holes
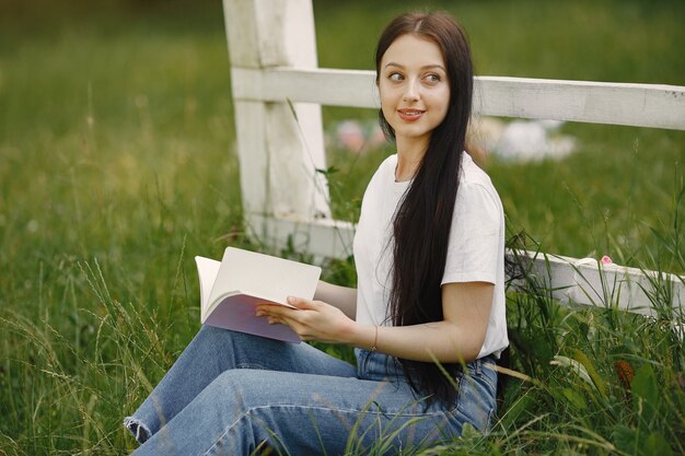
[[[450,84],[440,47],[411,34],[387,48],[379,69],[381,109],[395,130],[397,148],[428,147],[448,114]]]

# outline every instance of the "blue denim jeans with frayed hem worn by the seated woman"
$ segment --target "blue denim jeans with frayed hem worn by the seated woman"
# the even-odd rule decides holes
[[[202,327],[125,425],[135,455],[341,455],[385,442],[388,454],[433,445],[496,409],[491,358],[467,364],[458,398],[428,409],[394,358],[357,349],[358,367],[306,343]]]

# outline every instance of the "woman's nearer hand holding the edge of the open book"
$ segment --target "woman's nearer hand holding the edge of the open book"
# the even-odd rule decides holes
[[[288,297],[288,304],[297,308],[260,304],[257,306],[256,315],[266,316],[269,324],[288,325],[302,340],[349,342],[355,320],[347,317],[339,308],[322,301],[292,296]]]

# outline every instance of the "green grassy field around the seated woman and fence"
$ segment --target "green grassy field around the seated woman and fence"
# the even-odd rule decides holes
[[[383,24],[417,4],[314,3],[320,65],[363,69]],[[680,2],[430,4],[464,23],[480,74],[685,85]],[[221,4],[8,1],[0,43],[0,455],[128,454],[121,417],[199,327],[193,256],[260,248],[242,224]],[[330,130],[375,113],[324,115]],[[512,232],[684,272],[685,132],[562,132],[580,144],[568,159],[488,163]],[[390,151],[328,151],[337,214],[353,219]],[[347,262],[325,276],[355,280]],[[560,307],[534,283],[511,294],[523,375],[492,433],[423,454],[685,454],[670,319],[683,324]]]

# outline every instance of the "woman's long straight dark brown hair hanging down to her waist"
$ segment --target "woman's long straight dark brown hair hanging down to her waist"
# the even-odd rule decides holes
[[[393,221],[390,317],[396,326],[443,319],[440,288],[473,96],[473,63],[466,34],[444,13],[407,13],[387,25],[375,52],[376,84],[383,55],[395,39],[406,34],[431,40],[442,50],[450,104],[444,120],[430,136],[428,149]],[[379,120],[385,136],[394,140],[395,132],[382,110]],[[429,405],[436,400],[454,402],[456,390],[436,363],[398,361],[411,388],[427,395]],[[454,377],[460,365],[443,367]]]

